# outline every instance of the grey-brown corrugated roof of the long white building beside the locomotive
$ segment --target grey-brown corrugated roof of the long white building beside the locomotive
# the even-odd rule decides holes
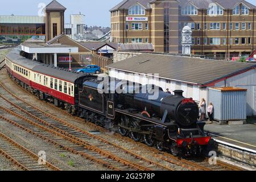
[[[234,63],[189,56],[159,55],[156,53],[142,53],[142,55],[107,66],[107,68],[125,72],[158,73],[159,77],[162,78],[199,85],[206,85],[255,67],[256,64],[251,63]]]

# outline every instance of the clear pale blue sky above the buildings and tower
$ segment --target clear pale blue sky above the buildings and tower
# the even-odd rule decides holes
[[[85,14],[88,26],[110,26],[109,10],[122,0],[57,0],[67,8],[65,23],[69,23],[70,14]],[[247,0],[256,5],[256,0]],[[0,15],[38,15],[39,3],[46,5],[51,0],[1,0]]]

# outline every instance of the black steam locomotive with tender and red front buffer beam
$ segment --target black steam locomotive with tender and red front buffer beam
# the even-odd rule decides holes
[[[152,90],[157,96],[150,100]],[[174,155],[198,155],[213,144],[204,133],[205,123],[197,121],[198,105],[184,98],[182,90],[171,95],[154,85],[90,77],[79,88],[78,108],[87,121],[108,129],[116,126],[122,136]]]

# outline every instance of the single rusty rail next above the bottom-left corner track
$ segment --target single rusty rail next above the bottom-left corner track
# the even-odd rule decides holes
[[[22,126],[22,125],[19,125],[18,123],[16,123],[15,121],[12,121],[11,119],[5,118],[5,117],[3,117],[2,115],[0,115],[0,118],[3,119],[3,120],[6,121],[6,122],[11,123],[12,125],[14,125],[14,126],[16,126],[16,127],[19,127],[20,129],[22,129],[22,130],[24,130],[24,131],[27,131],[27,132],[30,133],[30,134],[35,135],[36,137],[42,138],[43,140],[46,140],[47,142],[54,144],[55,146],[59,146],[60,148],[63,148],[64,150],[67,150],[67,151],[69,151],[69,152],[72,152],[73,154],[79,154],[79,155],[85,157],[86,159],[92,160],[93,162],[97,162],[98,164],[102,164],[102,166],[108,167],[108,168],[110,168],[110,169],[114,169],[115,171],[120,171],[120,169],[118,169],[117,167],[113,167],[113,166],[111,166],[110,164],[104,162],[104,161],[101,160],[101,159],[94,158],[93,156],[90,156],[90,155],[88,155],[88,154],[85,154],[84,152],[76,151],[76,150],[74,150],[74,149],[71,148],[71,147],[64,146],[63,144],[60,144],[60,143],[58,143],[58,142],[55,142],[54,140],[49,139],[49,138],[47,138],[47,137],[44,137],[44,136],[41,135],[41,134],[35,133],[34,131],[28,129],[27,127],[24,127],[24,126]]]

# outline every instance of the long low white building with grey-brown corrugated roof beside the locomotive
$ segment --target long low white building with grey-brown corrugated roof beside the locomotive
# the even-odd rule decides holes
[[[247,115],[256,115],[256,64],[207,60],[190,56],[142,53],[107,66],[110,77],[139,84],[155,84],[200,102],[209,101],[209,88],[247,89]]]

